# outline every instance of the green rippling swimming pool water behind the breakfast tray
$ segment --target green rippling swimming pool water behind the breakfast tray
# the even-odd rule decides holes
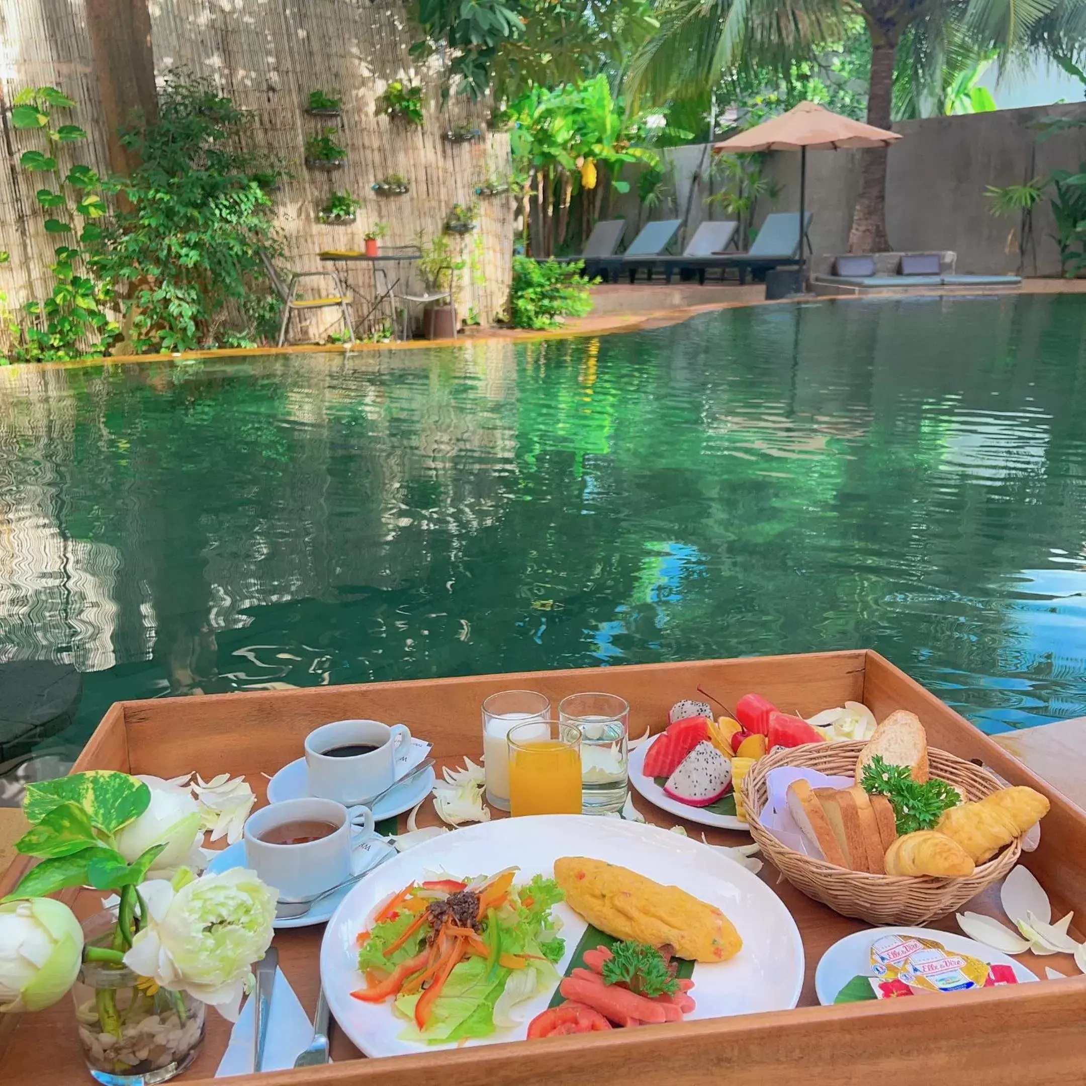
[[[1084,714],[1084,330],[908,299],[2,371],[0,645],[85,672],[71,744],[123,697],[855,646],[986,731]]]

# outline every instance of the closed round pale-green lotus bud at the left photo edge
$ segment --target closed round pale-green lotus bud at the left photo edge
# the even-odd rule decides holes
[[[51,1007],[72,987],[81,961],[83,929],[63,901],[0,905],[0,1012]]]

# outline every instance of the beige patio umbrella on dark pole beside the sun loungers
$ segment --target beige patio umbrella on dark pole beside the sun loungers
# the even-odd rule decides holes
[[[889,147],[901,137],[862,121],[843,117],[816,102],[800,102],[778,117],[763,121],[745,132],[712,147],[720,151],[798,151],[799,152],[799,281],[804,281],[807,231],[804,215],[807,203],[807,150],[836,151],[842,147]]]

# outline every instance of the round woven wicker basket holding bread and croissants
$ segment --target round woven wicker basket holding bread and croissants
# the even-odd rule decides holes
[[[844,917],[856,917],[872,924],[921,925],[960,909],[986,886],[1002,879],[1022,853],[1019,839],[972,875],[962,879],[929,879],[901,875],[873,875],[848,871],[825,860],[816,860],[782,845],[759,819],[769,799],[766,775],[781,766],[803,766],[829,776],[853,776],[863,743],[812,743],[775,750],[759,758],[743,779],[750,835],[762,854],[796,889],[830,906]],[[956,758],[945,750],[929,748],[931,775],[955,785],[967,799],[983,799],[998,792],[1002,784],[987,770]]]

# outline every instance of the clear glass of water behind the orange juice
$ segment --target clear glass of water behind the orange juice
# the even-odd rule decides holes
[[[619,811],[626,803],[630,706],[616,694],[570,694],[558,719],[581,730],[583,813]]]

